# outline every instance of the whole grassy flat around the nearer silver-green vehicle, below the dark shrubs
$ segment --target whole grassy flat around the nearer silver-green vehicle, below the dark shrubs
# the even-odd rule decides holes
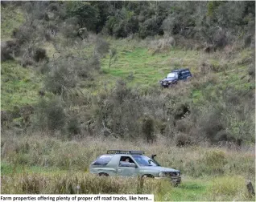
[[[159,164],[180,169],[183,181],[178,188],[159,180],[144,182],[142,193],[154,193],[158,200],[253,200],[245,186],[246,180],[255,181],[251,175],[253,147],[242,151],[226,147],[179,148],[170,139],[159,139],[155,144],[95,137],[67,142],[45,134],[9,134],[2,138],[2,192],[138,193],[140,189],[130,186],[134,179],[100,180],[87,173],[89,163],[116,144],[123,149],[145,150],[147,155],[157,153]],[[77,184],[81,189],[76,189]]]

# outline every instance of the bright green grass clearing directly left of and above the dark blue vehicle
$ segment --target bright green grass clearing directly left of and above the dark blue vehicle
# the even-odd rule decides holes
[[[158,83],[168,72],[176,67],[191,67],[196,69],[196,51],[171,50],[169,53],[151,55],[147,48],[136,47],[125,51],[126,47],[119,48],[118,61],[108,67],[109,58],[101,63],[104,75],[108,79],[125,79],[130,86],[140,85],[149,87]],[[129,81],[128,76],[133,74],[134,79]]]

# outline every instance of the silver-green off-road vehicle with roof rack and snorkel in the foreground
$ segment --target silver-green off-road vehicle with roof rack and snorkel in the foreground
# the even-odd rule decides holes
[[[89,166],[89,172],[98,176],[141,176],[166,179],[174,185],[180,184],[180,171],[163,168],[155,159],[143,151],[109,150],[97,157]]]

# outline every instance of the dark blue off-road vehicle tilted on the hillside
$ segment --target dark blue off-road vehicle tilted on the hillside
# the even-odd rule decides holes
[[[171,73],[169,73],[165,79],[159,81],[159,83],[161,84],[162,87],[171,87],[177,84],[178,81],[180,80],[186,81],[191,77],[192,77],[192,74],[188,68],[177,69],[177,70],[171,71]]]

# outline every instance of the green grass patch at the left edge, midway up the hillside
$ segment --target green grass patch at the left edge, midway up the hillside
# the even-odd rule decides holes
[[[14,61],[1,65],[1,108],[12,110],[14,106],[35,103],[39,97],[38,91],[41,78],[35,71],[25,69]]]

